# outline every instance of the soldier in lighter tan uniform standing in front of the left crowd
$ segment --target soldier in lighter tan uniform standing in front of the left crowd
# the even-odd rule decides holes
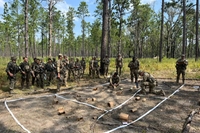
[[[60,87],[63,83],[63,80],[64,80],[64,75],[65,75],[65,66],[63,64],[63,61],[62,61],[62,58],[63,58],[63,55],[62,54],[59,54],[58,55],[58,61],[57,61],[57,91],[60,91]]]

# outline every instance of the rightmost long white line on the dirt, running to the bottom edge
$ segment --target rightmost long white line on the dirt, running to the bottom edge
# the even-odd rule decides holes
[[[175,90],[171,95],[169,95],[168,97],[166,97],[165,99],[163,99],[161,102],[159,102],[156,106],[154,106],[152,109],[150,109],[149,111],[147,111],[145,114],[143,114],[142,116],[140,116],[139,118],[137,118],[136,120],[126,124],[126,125],[121,125],[119,127],[116,127],[114,129],[111,129],[105,133],[111,133],[113,131],[116,131],[118,129],[121,129],[121,128],[124,128],[124,127],[127,127],[137,121],[139,121],[140,119],[142,119],[143,117],[145,117],[146,115],[148,115],[149,113],[151,113],[152,111],[154,111],[158,106],[160,106],[163,102],[165,102],[167,99],[169,99],[171,96],[173,96],[175,93],[179,92],[179,90],[184,86],[185,84],[181,85],[177,90]]]

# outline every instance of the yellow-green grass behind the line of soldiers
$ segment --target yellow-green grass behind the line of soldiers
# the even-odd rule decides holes
[[[85,73],[89,73],[89,60],[91,58],[86,58],[86,70]],[[128,68],[128,63],[131,61],[131,58],[124,58],[123,60],[123,68],[122,75],[127,76],[126,78],[130,78],[129,73],[130,70]],[[145,58],[138,59],[140,62],[140,69],[146,72],[149,72],[154,75],[155,78],[176,78],[176,69],[175,62],[177,59],[167,59],[163,58],[162,62],[159,62],[157,59]],[[7,80],[7,74],[5,69],[7,67],[7,63],[10,61],[10,58],[0,57],[0,90],[7,91],[9,81]],[[46,59],[44,59],[46,61]],[[22,59],[17,60],[17,64],[22,62]],[[32,62],[32,59],[29,60]],[[200,79],[200,61],[195,62],[195,59],[188,59],[188,66],[186,70],[186,78],[187,79]],[[115,68],[115,58],[110,59],[109,73],[112,74],[116,70]],[[20,88],[21,75],[17,74],[17,88]]]

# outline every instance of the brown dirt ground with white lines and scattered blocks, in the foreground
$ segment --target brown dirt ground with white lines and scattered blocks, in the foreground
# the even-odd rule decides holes
[[[163,89],[165,96],[139,94],[139,89],[125,78],[116,89],[108,88],[106,79],[101,78],[81,80],[79,85],[62,88],[60,92],[50,88],[30,91],[28,95],[4,94],[0,100],[0,132],[180,133],[188,114],[199,108],[200,91],[194,86],[199,86],[200,81],[186,80],[174,93],[181,84],[172,79],[157,80],[156,90]],[[6,105],[27,131],[17,124]],[[60,107],[65,114],[58,115]],[[120,118],[122,113],[128,115],[127,121]],[[199,125],[200,115],[196,114],[190,132],[199,133]]]

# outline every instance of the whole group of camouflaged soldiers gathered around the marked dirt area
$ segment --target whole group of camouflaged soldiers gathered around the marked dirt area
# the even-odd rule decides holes
[[[104,64],[104,76],[108,76],[110,59],[106,55],[103,58],[102,63]],[[181,59],[178,59],[176,62],[177,69],[177,80],[179,82],[180,74],[182,74],[182,81],[185,82],[185,70],[188,65],[185,56],[182,55]],[[109,82],[111,87],[116,88],[119,86],[121,70],[123,67],[123,58],[121,54],[115,59],[116,72],[110,77]],[[148,72],[144,72],[139,70],[140,63],[137,57],[133,57],[132,61],[129,62],[128,67],[130,68],[130,76],[131,83],[135,82],[136,87],[138,88],[138,77],[142,76],[143,79],[140,82],[140,87],[142,89],[142,93],[146,94],[145,88],[149,87],[149,93],[153,94],[163,94],[164,91],[161,90],[159,92],[155,91],[154,88],[157,85],[156,79]],[[89,61],[89,76],[91,78],[100,78],[100,67],[99,60],[97,60],[96,56],[92,57]],[[55,58],[48,58],[46,63],[43,62],[42,59],[34,58],[33,63],[29,64],[28,57],[23,57],[23,62],[19,64],[16,63],[16,57],[11,57],[11,61],[7,64],[6,72],[8,75],[9,90],[12,93],[15,84],[16,84],[16,74],[18,72],[21,73],[21,88],[30,88],[30,78],[32,78],[32,85],[37,87],[44,88],[44,82],[47,86],[49,86],[54,79],[57,81],[57,90],[60,91],[62,85],[68,86],[67,81],[71,78],[73,80],[79,80],[85,74],[86,69],[86,61],[85,58],[82,57],[81,60],[79,58],[70,58],[67,56],[63,56],[62,54],[58,55],[58,60]],[[26,86],[24,86],[26,85]]]

